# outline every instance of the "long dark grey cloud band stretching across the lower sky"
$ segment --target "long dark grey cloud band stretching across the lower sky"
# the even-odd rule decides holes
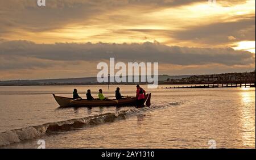
[[[249,65],[255,64],[255,54],[232,48],[188,48],[159,43],[56,43],[35,44],[31,41],[0,43],[0,56],[29,57],[53,61],[116,60],[159,62],[175,65]]]

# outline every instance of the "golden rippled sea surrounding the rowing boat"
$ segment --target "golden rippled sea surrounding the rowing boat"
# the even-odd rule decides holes
[[[80,96],[115,87],[76,86]],[[135,86],[119,86],[134,96]],[[59,108],[75,86],[0,87],[0,148],[255,148],[255,88],[159,89],[151,107]]]

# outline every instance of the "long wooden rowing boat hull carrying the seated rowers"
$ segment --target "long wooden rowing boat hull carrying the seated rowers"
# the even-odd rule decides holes
[[[60,107],[135,106],[137,103],[137,99],[135,97],[122,98],[118,100],[74,100],[73,98],[56,96],[55,94],[53,94],[53,97],[55,98],[56,102],[60,105]],[[148,104],[150,104],[150,98],[151,93],[147,94],[145,98],[145,102],[147,101],[147,106]]]

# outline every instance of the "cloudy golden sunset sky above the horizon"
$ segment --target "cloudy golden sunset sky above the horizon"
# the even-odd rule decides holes
[[[0,0],[0,81],[96,77],[98,62],[159,74],[255,70],[254,0]]]

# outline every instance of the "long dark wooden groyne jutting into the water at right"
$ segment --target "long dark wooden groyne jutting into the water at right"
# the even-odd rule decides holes
[[[189,85],[165,87],[165,89],[205,89],[205,88],[236,88],[236,87],[255,87],[255,83],[225,83],[225,84],[208,84],[208,85]],[[164,87],[162,87],[164,89]]]

